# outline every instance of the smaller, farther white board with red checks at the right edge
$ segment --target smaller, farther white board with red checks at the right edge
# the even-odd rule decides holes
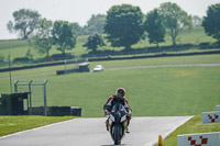
[[[220,111],[204,112],[202,123],[220,123]]]

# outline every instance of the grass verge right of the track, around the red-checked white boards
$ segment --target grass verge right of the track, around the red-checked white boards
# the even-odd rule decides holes
[[[165,141],[164,146],[177,146],[177,135],[220,132],[220,123],[202,124],[201,115],[196,115],[174,131]],[[158,146],[158,145],[155,145]]]

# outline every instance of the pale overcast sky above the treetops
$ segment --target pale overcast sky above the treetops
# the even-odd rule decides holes
[[[7,23],[13,21],[12,13],[20,9],[36,10],[42,18],[78,22],[84,26],[91,14],[106,14],[116,4],[139,5],[146,14],[167,1],[175,2],[188,14],[200,18],[206,15],[208,5],[220,2],[220,0],[0,0],[0,40],[16,38],[16,34],[8,32]]]

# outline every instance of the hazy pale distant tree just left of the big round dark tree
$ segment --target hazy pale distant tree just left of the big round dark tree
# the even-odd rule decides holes
[[[103,26],[106,23],[105,14],[92,14],[89,21],[87,22],[87,26],[84,27],[86,34],[101,34],[103,33]]]

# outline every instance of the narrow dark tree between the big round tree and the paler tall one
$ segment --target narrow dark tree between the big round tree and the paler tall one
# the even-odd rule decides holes
[[[157,44],[164,42],[166,29],[163,25],[162,18],[157,9],[151,11],[146,15],[145,30],[147,32],[150,43]]]

